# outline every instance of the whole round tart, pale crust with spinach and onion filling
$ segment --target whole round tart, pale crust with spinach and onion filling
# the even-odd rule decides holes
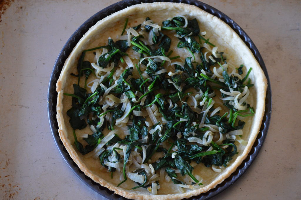
[[[59,133],[95,182],[131,199],[182,199],[249,153],[266,79],[225,23],[179,3],[131,6],[92,26],[57,82]]]

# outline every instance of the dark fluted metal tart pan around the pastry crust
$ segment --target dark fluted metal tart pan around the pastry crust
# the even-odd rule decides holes
[[[96,22],[103,19],[104,17],[107,17],[108,15],[120,11],[128,6],[139,4],[139,3],[150,3],[155,1],[148,1],[148,0],[124,0],[121,2],[117,2],[113,5],[108,6],[107,8],[104,8],[103,10],[99,11],[98,13],[94,14],[92,17],[90,17],[85,23],[83,23],[81,26],[79,26],[78,29],[71,35],[71,37],[68,39],[64,47],[62,48],[60,54],[57,57],[57,60],[55,61],[50,82],[49,82],[49,88],[48,88],[48,118],[50,123],[51,132],[53,134],[54,141],[57,145],[57,148],[61,152],[61,155],[69,165],[69,167],[72,169],[72,171],[81,179],[85,184],[87,184],[90,188],[95,190],[95,192],[98,192],[102,196],[108,198],[108,199],[119,199],[119,200],[127,200],[127,198],[124,198],[120,195],[114,194],[113,191],[110,191],[109,189],[101,186],[98,183],[95,183],[91,178],[87,177],[80,169],[79,167],[73,162],[71,157],[69,156],[67,150],[65,149],[63,143],[61,142],[61,139],[58,134],[58,125],[57,125],[57,119],[56,119],[56,103],[57,103],[57,92],[55,91],[56,88],[56,82],[59,78],[59,75],[61,73],[61,70],[64,66],[65,60],[77,44],[80,38],[85,34],[85,32],[88,31],[88,29],[93,26]],[[156,1],[160,2],[160,1]],[[163,1],[164,2],[164,1]],[[217,185],[216,188],[209,190],[206,193],[202,193],[198,196],[193,196],[189,198],[189,200],[205,200],[212,198],[213,196],[219,194],[223,190],[227,189],[229,186],[231,186],[244,172],[250,167],[254,159],[259,153],[259,150],[262,147],[262,144],[265,140],[265,137],[268,132],[268,126],[270,123],[271,118],[271,110],[272,110],[272,94],[271,94],[271,87],[270,87],[270,81],[268,78],[268,72],[265,68],[265,64],[262,60],[262,57],[252,42],[252,40],[249,38],[249,36],[244,32],[240,26],[237,25],[232,19],[230,19],[228,16],[226,16],[221,11],[196,0],[166,0],[165,2],[181,2],[186,4],[195,5],[204,11],[213,14],[216,17],[219,17],[221,20],[223,20],[225,23],[227,23],[239,36],[240,38],[245,42],[245,44],[250,48],[252,53],[254,54],[256,60],[259,62],[261,68],[264,71],[264,74],[268,80],[268,88],[267,88],[267,94],[265,99],[265,113],[262,120],[262,125],[259,131],[259,134],[256,138],[256,141],[253,145],[253,148],[251,149],[249,155],[244,160],[244,162],[236,169],[236,171],[231,174],[230,177],[228,177],[226,180],[224,180],[221,184]]]

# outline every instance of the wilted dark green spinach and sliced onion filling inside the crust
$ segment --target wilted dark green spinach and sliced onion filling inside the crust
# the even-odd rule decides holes
[[[153,23],[149,17],[145,20],[150,20],[149,22]],[[209,125],[218,127],[219,133],[226,138],[225,134],[228,132],[243,129],[245,122],[241,121],[240,117],[254,114],[254,109],[247,102],[241,104],[246,109],[239,110],[235,106],[234,100],[223,102],[224,106],[229,109],[229,113],[219,111],[214,115],[210,114],[216,107],[213,105],[209,109],[209,106],[214,103],[214,100],[217,98],[215,93],[220,89],[225,91],[221,93],[222,98],[226,98],[229,97],[228,93],[232,91],[235,91],[235,94],[239,94],[246,87],[253,86],[250,83],[250,79],[248,79],[252,68],[248,70],[242,79],[238,77],[244,73],[244,65],[240,65],[237,68],[239,75],[229,74],[227,68],[223,68],[225,65],[222,65],[227,63],[223,56],[224,52],[216,52],[216,57],[210,55],[211,57],[208,59],[209,54],[206,54],[207,50],[202,47],[202,42],[211,46],[214,45],[209,42],[209,39],[200,35],[200,27],[197,20],[188,19],[187,26],[184,28],[185,23],[185,18],[178,16],[163,21],[161,30],[154,29],[150,25],[143,27],[142,24],[139,24],[133,29],[138,33],[140,31],[147,32],[149,38],[144,38],[143,35],[131,36],[130,46],[128,46],[127,40],[114,42],[113,39],[109,38],[107,45],[82,51],[77,63],[78,74],[72,74],[78,77],[78,83],[73,85],[74,93],[64,93],[72,97],[72,107],[67,111],[67,115],[70,117],[69,122],[73,128],[74,144],[83,155],[91,152],[101,142],[104,138],[102,133],[104,129],[114,130],[116,125],[123,125],[124,127],[127,125],[127,135],[120,137],[118,134],[115,134],[104,145],[103,148],[105,150],[98,156],[101,165],[112,173],[111,177],[116,168],[108,167],[105,163],[111,162],[113,158],[115,160],[113,163],[123,163],[122,173],[124,180],[118,186],[127,180],[126,170],[134,149],[141,157],[143,153],[146,153],[146,155],[143,155],[145,156],[143,164],[150,164],[156,153],[160,152],[163,154],[161,158],[157,161],[153,160],[151,164],[155,171],[164,169],[174,184],[199,183],[199,180],[193,175],[194,168],[191,162],[203,163],[206,167],[211,167],[212,165],[226,167],[232,157],[237,154],[237,147],[234,141],[230,139],[223,140],[219,144],[215,142],[216,140],[208,141],[207,144],[200,144],[204,140],[209,140],[208,136],[206,138],[204,136],[208,134],[207,131],[212,131],[212,127]],[[124,34],[127,26],[128,18],[125,20],[121,35]],[[167,36],[169,30],[176,32],[178,41],[171,41],[171,38]],[[199,38],[198,41],[196,38]],[[175,44],[177,44],[178,48],[186,48],[191,53],[191,56],[172,55],[174,52],[169,50],[172,42],[176,42]],[[89,93],[86,89],[91,87],[91,85],[87,85],[88,78],[90,79],[90,76],[93,75],[99,78],[100,74],[95,74],[91,63],[85,61],[85,55],[89,51],[103,48],[107,49],[107,53],[101,54],[96,59],[98,66],[103,69],[111,65],[114,67],[109,72],[101,72],[101,75],[105,77],[98,83],[95,91]],[[126,66],[124,62],[123,56],[128,56],[126,52],[128,52],[129,48],[136,51],[137,58],[140,58],[140,60],[136,60],[137,62],[134,61],[133,63],[135,69]],[[95,52],[94,54],[96,55]],[[160,56],[168,57],[170,60],[181,57],[184,63],[181,64],[177,60],[178,62],[175,62],[172,66],[175,69],[175,73],[171,75],[168,73],[168,70],[170,70],[169,66],[166,65],[168,63],[166,60],[168,59],[160,60],[158,59]],[[196,56],[200,59],[195,59]],[[196,62],[196,60],[199,60],[199,62]],[[123,67],[122,72],[118,66]],[[214,75],[211,71],[213,67],[223,69],[222,79]],[[158,74],[157,72],[162,69],[166,69],[167,72]],[[80,78],[83,75],[85,75],[84,84],[80,83]],[[110,88],[111,90],[108,94],[114,94],[119,100],[116,99],[112,103],[105,99],[104,88],[109,88],[114,84],[116,87]],[[83,86],[80,87],[80,85]],[[198,94],[198,97],[196,94]],[[144,103],[141,102],[142,100]],[[195,101],[196,104],[194,103]],[[127,102],[130,102],[130,107],[126,107]],[[191,102],[193,103],[191,104]],[[155,116],[160,116],[160,118],[156,118],[157,122],[149,122],[149,117],[145,116],[145,112],[147,114],[149,112],[149,110],[146,111],[147,107],[151,108]],[[140,116],[140,113],[142,113],[142,116]],[[123,124],[117,121],[118,123],[116,124],[116,120],[122,117],[126,118],[127,121]],[[83,139],[84,143],[87,143],[84,146],[77,140],[75,130],[84,129],[87,127],[87,124],[95,128],[95,132]],[[189,142],[191,139],[195,139],[191,137],[200,139],[201,142]],[[120,145],[120,147],[112,147],[113,145]],[[126,146],[124,155],[122,153],[124,149],[122,149],[121,145]],[[226,145],[227,147],[225,148]],[[132,156],[135,154],[132,154]],[[121,168],[118,170],[121,171]],[[185,181],[180,180],[180,175],[175,173],[176,170],[179,170],[182,176],[187,174],[191,177],[192,183],[185,183]],[[146,185],[149,178],[146,171],[146,169],[134,171],[134,173],[144,176],[144,183],[137,183],[138,186],[132,189],[151,186],[150,184]],[[157,182],[157,184],[159,183]],[[201,184],[199,183],[199,185]]]

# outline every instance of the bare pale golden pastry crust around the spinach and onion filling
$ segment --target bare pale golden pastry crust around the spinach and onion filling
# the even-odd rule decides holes
[[[131,190],[126,188],[126,186],[117,187],[116,183],[113,183],[112,180],[108,180],[108,176],[104,173],[101,173],[101,170],[91,167],[91,160],[86,159],[79,152],[77,152],[75,146],[73,145],[74,139],[72,136],[72,129],[69,125],[69,118],[66,115],[66,111],[70,108],[71,97],[64,96],[63,93],[73,93],[72,83],[74,80],[70,80],[69,74],[74,70],[79,55],[82,50],[93,47],[92,41],[98,39],[99,33],[105,32],[104,36],[101,36],[101,39],[107,40],[107,35],[116,34],[113,31],[122,29],[123,21],[126,17],[129,17],[129,23],[135,25],[135,21],[138,22],[139,19],[145,19],[145,17],[150,17],[154,21],[162,21],[162,19],[167,19],[168,17],[174,17],[176,15],[185,15],[188,18],[197,18],[200,23],[201,30],[206,30],[208,38],[210,41],[218,44],[219,48],[224,50],[229,55],[229,60],[234,65],[244,64],[247,69],[250,67],[253,68],[253,72],[250,74],[252,82],[254,82],[254,87],[251,89],[251,98],[253,98],[253,107],[256,110],[255,115],[249,119],[247,126],[244,130],[247,130],[249,133],[244,135],[244,140],[248,141],[246,147],[240,145],[240,153],[237,157],[231,162],[231,164],[225,168],[221,173],[216,173],[209,171],[203,167],[197,167],[194,170],[195,174],[200,174],[205,177],[205,186],[200,189],[186,191],[185,193],[177,194],[159,194],[152,195],[149,192],[144,190]],[[105,29],[104,29],[105,28]],[[99,40],[98,40],[99,41]],[[199,195],[202,192],[207,192],[209,189],[216,187],[217,184],[221,183],[227,177],[233,173],[236,168],[243,162],[247,157],[250,149],[253,146],[256,136],[259,132],[259,128],[262,122],[263,113],[265,110],[265,93],[267,88],[267,80],[263,74],[262,69],[260,68],[258,62],[254,58],[250,49],[244,44],[244,42],[239,38],[239,36],[222,20],[213,15],[206,13],[192,5],[181,4],[181,3],[166,3],[166,2],[157,2],[151,4],[139,4],[135,6],[128,7],[122,11],[116,12],[103,20],[96,23],[95,26],[92,26],[87,33],[80,39],[76,47],[71,52],[70,56],[67,58],[59,80],[57,82],[57,121],[59,125],[59,134],[61,137],[64,146],[66,147],[71,158],[76,162],[79,168],[88,176],[91,177],[97,183],[100,183],[102,186],[107,187],[110,190],[113,190],[115,193],[122,195],[130,199],[156,199],[156,200],[176,200],[182,198],[189,198],[194,195]],[[211,177],[206,179],[206,174],[210,174]],[[130,183],[129,183],[130,184]],[[172,188],[172,185],[168,187]],[[166,186],[166,188],[168,188]]]

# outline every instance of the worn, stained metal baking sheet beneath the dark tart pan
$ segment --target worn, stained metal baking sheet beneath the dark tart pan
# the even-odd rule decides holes
[[[116,1],[2,2],[0,199],[107,200],[82,183],[57,150],[47,117],[47,88],[70,35]],[[272,121],[261,152],[233,186],[212,199],[301,199],[301,2],[203,2],[247,32],[265,61],[273,94]]]

